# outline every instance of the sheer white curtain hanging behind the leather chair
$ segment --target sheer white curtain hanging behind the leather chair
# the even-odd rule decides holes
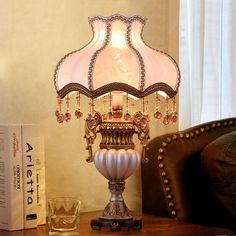
[[[235,16],[235,0],[180,0],[180,130],[236,116]]]

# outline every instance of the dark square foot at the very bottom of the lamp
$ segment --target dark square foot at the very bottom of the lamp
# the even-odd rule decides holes
[[[131,219],[92,219],[90,225],[93,230],[101,230],[102,228],[110,228],[111,231],[121,231],[122,228],[128,228],[128,230],[140,230],[142,229],[141,218]]]

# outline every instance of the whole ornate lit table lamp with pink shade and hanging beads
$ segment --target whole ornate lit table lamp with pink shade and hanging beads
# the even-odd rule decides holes
[[[81,94],[90,98],[90,112],[85,118],[85,139],[88,162],[109,181],[111,198],[102,216],[91,221],[93,229],[109,226],[112,229],[141,228],[141,219],[134,219],[124,202],[125,180],[145,158],[149,140],[149,114],[145,97],[156,93],[155,119],[164,124],[177,121],[175,96],[180,82],[177,63],[168,54],[155,50],[142,39],[146,18],[115,14],[89,18],[93,37],[83,48],[65,55],[57,64],[54,83],[58,94],[56,117],[59,123],[69,121],[70,95],[77,93],[75,116],[83,117]],[[165,114],[161,114],[160,95],[166,97]],[[132,113],[130,101],[141,100],[142,109]],[[103,100],[104,99],[104,100]],[[63,100],[67,110],[62,112]],[[96,100],[107,100],[109,108],[96,110]],[[97,134],[101,143],[93,153]],[[135,150],[133,135],[143,145],[142,155]],[[142,157],[141,157],[142,156]]]

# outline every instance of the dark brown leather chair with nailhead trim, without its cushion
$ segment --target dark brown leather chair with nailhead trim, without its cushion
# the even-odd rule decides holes
[[[228,210],[212,191],[202,166],[204,148],[232,131],[236,131],[236,118],[204,123],[151,140],[146,152],[149,161],[141,168],[143,212],[235,230],[236,221],[228,223]]]

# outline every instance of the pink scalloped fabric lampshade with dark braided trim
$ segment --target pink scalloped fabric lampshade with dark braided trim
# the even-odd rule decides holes
[[[83,48],[65,55],[54,74],[58,95],[79,91],[96,98],[125,91],[138,98],[163,91],[176,95],[180,73],[168,54],[150,48],[142,39],[146,19],[140,16],[89,18],[93,38]]]

